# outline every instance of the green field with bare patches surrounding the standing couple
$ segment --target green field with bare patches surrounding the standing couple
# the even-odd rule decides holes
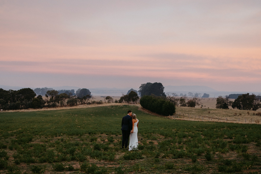
[[[133,152],[121,149],[129,109],[139,119]],[[0,173],[260,173],[260,128],[168,119],[127,105],[5,112]]]

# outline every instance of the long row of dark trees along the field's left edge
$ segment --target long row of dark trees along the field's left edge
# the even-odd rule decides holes
[[[43,108],[56,106],[75,106],[78,104],[101,104],[102,102],[94,101],[90,90],[83,88],[74,90],[53,90],[52,88],[23,88],[20,90],[4,90],[0,88],[0,109],[18,110],[28,108]],[[47,91],[46,91],[47,90]],[[43,99],[44,94],[46,99]],[[64,92],[64,93],[61,93]],[[36,97],[37,96],[37,97]]]

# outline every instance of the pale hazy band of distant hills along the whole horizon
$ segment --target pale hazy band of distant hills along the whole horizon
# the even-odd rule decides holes
[[[19,86],[6,86],[6,85],[0,85],[0,88],[3,88],[4,90],[19,90],[22,88],[28,88],[28,87],[19,87]],[[44,88],[44,87],[40,87]],[[75,91],[79,89],[80,87],[76,86],[49,86],[47,88],[53,88],[55,90],[72,90],[74,89]],[[87,87],[85,87],[87,88]],[[133,87],[129,88],[87,88],[90,90],[92,95],[97,95],[97,96],[122,96],[122,94],[126,94],[128,90],[130,90]],[[35,88],[31,88],[35,89]],[[135,90],[139,90],[139,88],[133,88]],[[210,88],[208,86],[164,86],[164,92],[165,93],[177,93],[178,95],[182,94],[188,94],[189,92],[191,93],[201,93],[202,95],[204,93],[209,94],[209,97],[218,97],[220,95],[225,96],[229,94],[245,94],[245,93],[250,93],[250,94],[260,94],[261,92],[251,92],[251,91],[218,91],[213,88]]]

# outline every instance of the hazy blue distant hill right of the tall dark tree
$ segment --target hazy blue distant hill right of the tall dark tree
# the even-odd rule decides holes
[[[207,86],[164,86],[164,92],[217,92]]]

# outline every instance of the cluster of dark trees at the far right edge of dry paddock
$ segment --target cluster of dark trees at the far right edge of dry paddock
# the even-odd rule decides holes
[[[240,110],[258,110],[261,108],[261,96],[249,93],[247,94],[235,94],[238,97],[235,101],[230,100],[230,95],[225,97],[219,96],[217,98],[216,108],[228,109],[231,106],[233,109],[237,108]],[[233,95],[232,95],[233,97]]]

